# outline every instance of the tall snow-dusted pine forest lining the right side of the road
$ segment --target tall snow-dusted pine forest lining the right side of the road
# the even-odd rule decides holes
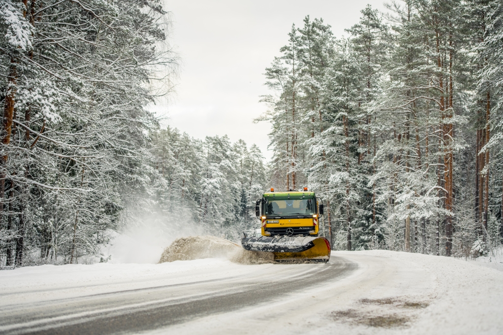
[[[503,227],[503,3],[367,6],[292,26],[266,69],[272,186],[324,200],[334,249],[485,255]]]

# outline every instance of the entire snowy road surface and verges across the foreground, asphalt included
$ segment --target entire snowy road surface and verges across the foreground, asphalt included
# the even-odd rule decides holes
[[[502,313],[502,271],[388,251],[0,271],[2,334],[500,334]]]

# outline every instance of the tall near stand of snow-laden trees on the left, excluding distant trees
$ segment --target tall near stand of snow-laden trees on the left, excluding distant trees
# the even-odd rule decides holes
[[[6,0],[0,8],[11,36],[2,47],[16,49],[0,59],[7,263],[96,255],[144,186],[152,70],[175,62],[156,48],[164,12],[156,0]],[[32,260],[36,249],[41,258]]]

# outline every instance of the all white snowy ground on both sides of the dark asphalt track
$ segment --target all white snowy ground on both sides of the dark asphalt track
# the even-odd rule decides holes
[[[357,264],[358,267],[333,280],[317,281],[324,267],[330,269],[330,263],[338,262]],[[78,301],[83,301],[82,304],[91,304],[94,303],[92,297],[101,297],[104,293],[112,297],[114,294],[120,296],[120,299],[113,300],[115,305],[100,305],[97,302],[84,311],[79,309],[78,312],[85,316],[93,308],[104,310],[104,306],[115,308],[127,303],[132,306],[138,301],[159,303],[162,299],[174,299],[171,295],[175,293],[166,297],[155,293],[156,300],[143,294],[135,297],[134,301],[127,298],[132,293],[120,295],[120,292],[145,288],[158,288],[157,291],[149,291],[152,293],[163,292],[162,287],[166,285],[180,285],[175,294],[180,301],[196,299],[194,301],[197,302],[194,294],[205,293],[210,289],[205,283],[211,283],[215,304],[218,304],[218,297],[231,291],[236,294],[254,283],[259,283],[258,287],[261,287],[272,285],[273,281],[292,280],[297,278],[295,276],[305,278],[315,273],[309,279],[312,285],[305,289],[286,291],[271,299],[264,297],[253,304],[246,305],[244,302],[230,311],[195,315],[183,322],[144,332],[501,334],[503,272],[481,265],[485,263],[377,250],[333,252],[327,266],[240,265],[225,259],[202,259],[163,264],[25,267],[0,272],[0,314],[4,315],[0,318],[0,333],[15,333],[16,326],[10,322],[16,318],[16,310],[21,313],[28,307],[42,308],[55,304],[59,299],[69,299],[76,304],[77,300],[71,299],[78,298]],[[198,285],[184,286],[187,283]],[[235,286],[237,284],[240,286]],[[233,291],[232,287],[236,289]],[[261,294],[260,289],[254,290],[253,294]],[[53,317],[46,316],[44,324],[50,327],[51,320],[60,322],[61,318]],[[26,323],[26,320],[22,322]],[[36,325],[38,321],[29,322]]]

